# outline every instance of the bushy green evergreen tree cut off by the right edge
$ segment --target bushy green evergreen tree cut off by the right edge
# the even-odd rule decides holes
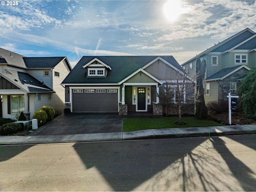
[[[256,114],[256,68],[251,69],[238,88],[244,114],[253,118]]]

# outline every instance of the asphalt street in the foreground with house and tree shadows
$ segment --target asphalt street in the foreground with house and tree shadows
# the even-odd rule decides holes
[[[256,135],[0,146],[0,191],[255,191]]]

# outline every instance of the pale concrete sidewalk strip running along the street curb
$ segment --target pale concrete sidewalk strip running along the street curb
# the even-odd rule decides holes
[[[148,129],[130,132],[63,134],[37,136],[0,136],[0,145],[45,144],[64,142],[114,141],[152,138],[211,137],[235,134],[256,134],[256,124],[212,127]]]

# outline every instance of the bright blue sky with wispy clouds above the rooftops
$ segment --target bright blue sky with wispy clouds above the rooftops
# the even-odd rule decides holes
[[[0,0],[0,47],[28,57],[172,55],[182,64],[250,28],[239,0]],[[9,4],[9,5],[8,5]]]

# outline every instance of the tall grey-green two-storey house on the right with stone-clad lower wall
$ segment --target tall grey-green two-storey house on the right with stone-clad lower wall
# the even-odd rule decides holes
[[[181,66],[195,74],[196,58],[206,59],[204,99],[208,103],[228,100],[228,93],[236,93],[243,77],[256,67],[256,33],[249,28],[219,42]]]

